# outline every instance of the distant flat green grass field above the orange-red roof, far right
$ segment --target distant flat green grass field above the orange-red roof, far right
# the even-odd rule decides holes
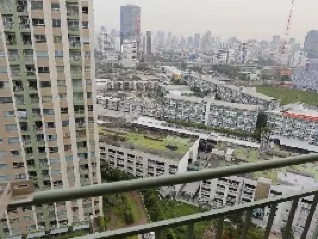
[[[315,92],[272,86],[258,86],[256,89],[259,93],[280,99],[283,105],[294,102],[301,102],[308,105],[318,105],[318,94]]]

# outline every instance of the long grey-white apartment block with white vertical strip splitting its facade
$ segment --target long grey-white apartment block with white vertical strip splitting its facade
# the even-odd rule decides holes
[[[170,94],[165,97],[163,112],[166,119],[253,132],[259,106]]]

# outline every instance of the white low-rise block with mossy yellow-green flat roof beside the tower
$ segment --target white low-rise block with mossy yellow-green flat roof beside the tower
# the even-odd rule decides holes
[[[101,161],[140,178],[186,172],[189,162],[197,160],[198,146],[196,137],[106,128],[100,132]]]

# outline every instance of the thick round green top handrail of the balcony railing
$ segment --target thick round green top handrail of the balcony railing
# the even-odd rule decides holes
[[[96,197],[108,194],[131,192],[162,186],[171,186],[218,177],[227,177],[255,171],[275,169],[290,165],[312,163],[318,161],[318,154],[308,154],[301,156],[288,157],[283,159],[266,160],[257,163],[243,163],[223,168],[205,169],[201,171],[186,172],[175,175],[163,175],[160,177],[147,177],[114,183],[103,183],[83,187],[64,188],[34,192],[29,200],[17,200],[9,204],[9,208],[18,206],[42,205],[57,201],[66,201],[87,197]]]

